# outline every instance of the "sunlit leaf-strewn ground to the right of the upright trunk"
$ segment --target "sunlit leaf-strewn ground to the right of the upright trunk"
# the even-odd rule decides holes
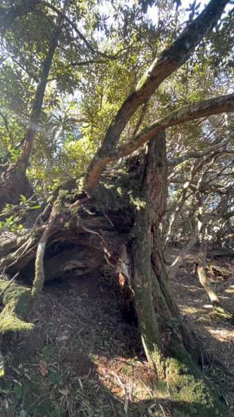
[[[167,263],[174,261],[180,248],[167,251]],[[234,327],[220,318],[210,318],[212,305],[199,278],[193,273],[196,248],[187,254],[178,274],[171,279],[177,302],[187,322],[197,334],[203,354],[203,370],[215,382],[219,393],[228,406],[228,416],[234,416]],[[207,275],[219,301],[228,311],[234,307],[234,258],[222,256],[219,250],[209,250],[207,265],[217,266],[220,272]],[[226,273],[225,273],[226,272]]]

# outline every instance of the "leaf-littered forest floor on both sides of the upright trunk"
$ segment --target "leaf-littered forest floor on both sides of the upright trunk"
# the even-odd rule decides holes
[[[167,261],[177,253],[177,248],[171,248]],[[215,382],[231,417],[233,326],[210,318],[208,297],[192,275],[193,260],[194,254],[187,255],[172,286],[199,337],[204,373]],[[217,257],[212,263],[231,271],[234,259]],[[3,352],[6,374],[0,381],[1,417],[176,416],[167,384],[156,382],[137,327],[123,319],[109,278],[107,269],[101,279],[89,275],[51,281],[44,287],[30,318],[35,330],[23,339],[9,340],[10,349]],[[212,281],[218,288],[224,278],[217,275]],[[229,309],[233,309],[233,298],[234,285],[220,293]]]

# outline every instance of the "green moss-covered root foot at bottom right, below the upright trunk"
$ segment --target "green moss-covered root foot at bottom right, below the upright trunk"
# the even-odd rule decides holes
[[[224,417],[224,406],[215,387],[194,366],[185,349],[178,345],[167,363],[167,384],[176,406],[176,417]]]

